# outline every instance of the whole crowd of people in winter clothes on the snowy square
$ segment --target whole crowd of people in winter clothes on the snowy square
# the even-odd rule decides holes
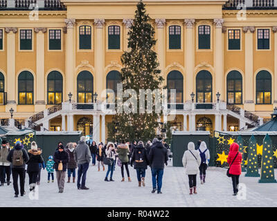
[[[13,187],[15,190],[15,198],[26,194],[24,189],[26,173],[29,177],[29,189],[35,191],[35,186],[40,184],[40,173],[42,169],[48,172],[48,183],[57,180],[59,193],[64,192],[65,177],[67,172],[67,182],[75,183],[76,169],[77,171],[77,188],[88,190],[86,186],[87,171],[89,164],[98,166],[107,173],[105,182],[114,182],[113,175],[116,170],[116,165],[120,167],[122,180],[125,182],[125,173],[127,181],[132,182],[129,173],[129,166],[134,167],[138,186],[145,186],[145,173],[150,166],[152,173],[152,193],[161,194],[163,182],[163,172],[165,164],[168,165],[169,157],[172,157],[170,147],[161,137],[154,138],[152,142],[148,140],[146,144],[143,141],[139,142],[108,142],[98,145],[92,142],[91,145],[86,141],[86,137],[80,137],[78,144],[69,142],[64,146],[62,142],[57,144],[55,153],[48,156],[46,164],[42,157],[42,148],[39,148],[36,142],[31,143],[28,151],[24,148],[21,142],[17,141],[15,147],[10,149],[6,140],[2,141],[0,149],[0,181],[1,186],[6,183],[10,185],[10,176],[12,174]],[[188,143],[188,150],[184,152],[182,159],[186,174],[188,175],[188,184],[190,195],[197,194],[197,174],[200,176],[201,184],[206,182],[206,169],[210,160],[210,152],[204,141],[199,141],[195,148],[193,142]],[[238,183],[241,173],[240,163],[242,155],[238,152],[238,144],[233,143],[230,147],[229,157],[227,159],[230,169],[229,173],[233,181],[233,195],[238,193]],[[19,186],[18,186],[19,179]]]

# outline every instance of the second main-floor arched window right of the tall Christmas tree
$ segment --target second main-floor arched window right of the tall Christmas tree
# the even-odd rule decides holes
[[[200,70],[196,76],[197,103],[211,103],[213,91],[213,77],[208,70]]]

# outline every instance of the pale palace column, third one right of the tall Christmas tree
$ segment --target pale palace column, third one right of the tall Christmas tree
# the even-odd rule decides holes
[[[213,91],[213,94],[215,95],[215,93],[219,92],[222,95],[221,97],[224,97],[223,96],[224,95],[224,69],[223,69],[224,53],[223,53],[223,40],[222,40],[222,24],[224,20],[213,19],[213,21],[215,23],[215,44],[214,44],[215,91]]]

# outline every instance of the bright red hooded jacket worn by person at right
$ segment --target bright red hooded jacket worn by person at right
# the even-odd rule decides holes
[[[242,154],[240,152],[238,152],[238,148],[239,148],[239,146],[237,143],[231,144],[229,155],[227,158],[227,162],[229,165],[233,162],[233,159],[235,158],[235,160],[229,170],[229,173],[232,175],[240,175],[242,173],[242,166],[241,166]],[[235,155],[237,155],[237,153],[238,153],[238,156],[235,157]]]

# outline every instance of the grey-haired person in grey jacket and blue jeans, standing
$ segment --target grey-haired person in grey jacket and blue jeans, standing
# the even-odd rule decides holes
[[[87,170],[89,169],[89,162],[91,162],[91,151],[89,151],[89,146],[85,143],[86,137],[82,136],[80,138],[79,144],[76,146],[74,151],[74,158],[78,164],[78,189],[89,189],[86,186]],[[82,183],[80,180],[82,178]]]

